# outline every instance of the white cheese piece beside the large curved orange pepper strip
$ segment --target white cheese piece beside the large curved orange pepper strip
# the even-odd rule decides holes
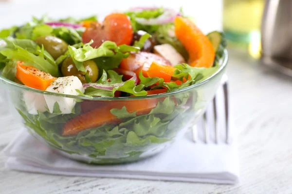
[[[173,66],[185,63],[183,56],[170,44],[154,46],[154,53],[164,57]]]

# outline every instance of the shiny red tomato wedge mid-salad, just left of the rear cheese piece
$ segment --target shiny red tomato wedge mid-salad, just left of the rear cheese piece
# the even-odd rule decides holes
[[[139,52],[131,53],[128,58],[123,59],[120,64],[120,68],[135,72],[138,78],[139,73],[142,70],[143,76],[148,77],[147,70],[153,62],[157,62],[162,65],[171,65],[169,61],[157,54],[150,52]]]

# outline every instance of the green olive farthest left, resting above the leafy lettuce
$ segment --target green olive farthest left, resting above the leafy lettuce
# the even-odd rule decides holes
[[[41,36],[35,39],[35,42],[40,47],[43,45],[44,49],[48,51],[55,60],[68,49],[68,44],[64,40],[55,36]]]

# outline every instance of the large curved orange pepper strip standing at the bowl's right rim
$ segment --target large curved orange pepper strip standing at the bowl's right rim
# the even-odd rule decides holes
[[[211,67],[215,59],[212,43],[190,19],[178,16],[174,20],[175,34],[189,53],[189,65]]]

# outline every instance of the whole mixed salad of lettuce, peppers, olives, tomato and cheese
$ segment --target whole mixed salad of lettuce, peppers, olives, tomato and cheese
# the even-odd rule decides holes
[[[0,31],[0,72],[23,85],[12,95],[16,108],[47,144],[87,162],[129,162],[171,141],[194,115],[197,91],[164,93],[212,76],[225,47],[221,32],[204,35],[167,8],[103,20],[33,17]]]

